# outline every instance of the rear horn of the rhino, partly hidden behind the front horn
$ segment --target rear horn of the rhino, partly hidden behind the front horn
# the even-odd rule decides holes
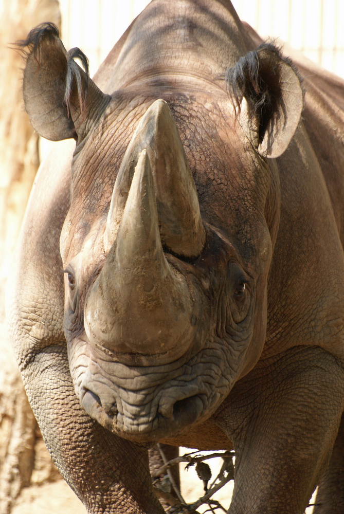
[[[104,235],[105,250],[114,243],[138,161],[149,157],[162,245],[187,258],[201,254],[205,230],[195,182],[175,121],[165,100],[156,100],[141,118],[116,179]]]

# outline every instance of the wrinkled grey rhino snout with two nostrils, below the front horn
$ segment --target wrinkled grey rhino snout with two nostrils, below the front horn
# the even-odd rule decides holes
[[[76,395],[90,417],[122,438],[178,436],[209,418],[232,386],[232,352],[216,346],[168,364],[130,366],[75,340],[69,364]]]

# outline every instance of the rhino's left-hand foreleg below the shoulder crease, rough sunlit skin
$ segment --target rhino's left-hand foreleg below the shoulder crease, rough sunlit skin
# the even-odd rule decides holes
[[[26,371],[32,377],[26,390],[49,452],[87,512],[163,513],[152,488],[148,451],[113,435],[83,411],[64,348],[48,347]]]

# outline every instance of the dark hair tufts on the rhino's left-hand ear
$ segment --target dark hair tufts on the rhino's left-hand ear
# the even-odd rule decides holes
[[[40,67],[40,49],[41,49],[41,42],[43,39],[49,38],[49,39],[55,39],[59,38],[60,32],[58,27],[51,23],[46,22],[42,23],[41,25],[38,25],[37,27],[33,28],[26,40],[17,41],[14,46],[14,48],[19,49],[23,51],[24,57],[27,58],[31,52],[33,52],[34,58],[37,61],[38,69]],[[75,62],[74,59],[79,59],[81,62],[84,70],[85,70],[85,76],[84,81],[82,80],[82,75],[80,73],[80,68]],[[67,52],[66,54],[66,60],[67,60],[67,73],[66,73],[66,89],[65,89],[65,95],[64,95],[64,103],[67,107],[67,113],[69,116],[70,112],[70,100],[73,90],[73,81],[74,78],[77,83],[78,87],[78,95],[79,95],[79,102],[80,102],[80,109],[81,109],[81,115],[84,119],[86,116],[86,97],[87,97],[87,89],[88,89],[88,78],[89,78],[89,67],[88,67],[88,59],[85,56],[85,54],[80,50],[80,48],[72,48]]]

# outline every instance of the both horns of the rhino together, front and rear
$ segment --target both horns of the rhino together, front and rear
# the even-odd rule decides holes
[[[90,344],[117,356],[158,355],[159,362],[185,355],[202,302],[171,253],[197,256],[204,243],[183,145],[167,103],[157,100],[139,123],[116,179],[104,235],[110,249],[84,307]]]

